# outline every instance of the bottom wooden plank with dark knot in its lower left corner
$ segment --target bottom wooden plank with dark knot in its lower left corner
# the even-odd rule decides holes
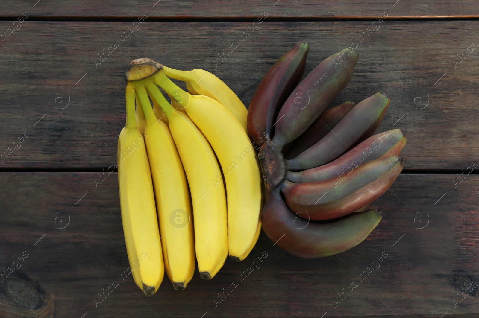
[[[344,253],[300,259],[262,233],[245,261],[228,260],[213,280],[201,281],[196,272],[187,288],[176,292],[165,276],[158,294],[148,298],[130,276],[119,278],[128,261],[115,173],[95,188],[97,174],[91,172],[2,172],[0,180],[8,186],[0,192],[0,265],[2,271],[18,267],[13,261],[28,254],[10,276],[37,284],[55,317],[80,318],[86,312],[85,318],[131,317],[132,312],[135,317],[198,318],[319,318],[325,313],[324,317],[439,318],[445,312],[445,317],[475,317],[478,288],[461,298],[457,294],[479,284],[479,176],[468,176],[456,188],[454,177],[399,175],[391,191],[372,204],[383,208],[378,227]],[[262,254],[262,262],[253,264]],[[381,255],[382,261],[373,263]],[[245,271],[251,273],[240,278]],[[11,277],[0,286],[15,280]],[[221,301],[218,293],[235,281],[239,286],[216,304]],[[119,286],[95,307],[98,293],[113,282]],[[339,302],[338,293],[352,282],[357,286]],[[21,288],[17,291],[28,295]],[[7,317],[19,316],[15,310],[22,308],[9,300],[17,298],[8,299],[5,293],[0,288],[0,310],[9,307],[15,314]],[[20,316],[34,317],[30,314]]]

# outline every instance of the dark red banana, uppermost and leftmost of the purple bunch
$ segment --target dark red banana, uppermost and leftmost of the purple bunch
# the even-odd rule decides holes
[[[308,51],[308,43],[299,41],[278,59],[258,85],[247,119],[248,135],[253,145],[262,145],[266,138],[271,140],[273,118],[303,76]]]

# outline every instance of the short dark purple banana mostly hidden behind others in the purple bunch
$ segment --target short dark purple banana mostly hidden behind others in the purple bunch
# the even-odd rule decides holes
[[[341,121],[354,105],[354,102],[347,101],[324,111],[301,136],[293,141],[293,146],[286,151],[285,158],[295,158],[301,152],[316,144]]]

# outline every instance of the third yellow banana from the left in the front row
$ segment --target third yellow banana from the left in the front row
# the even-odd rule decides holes
[[[213,278],[228,256],[226,194],[213,149],[192,120],[177,112],[158,87],[147,86],[168,116],[193,201],[196,259],[201,278]],[[144,89],[144,88],[141,88]]]

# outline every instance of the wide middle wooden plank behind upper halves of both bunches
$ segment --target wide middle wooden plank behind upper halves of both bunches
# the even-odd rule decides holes
[[[460,21],[385,20],[360,38],[374,27],[371,21],[265,20],[241,42],[251,25],[144,22],[122,43],[120,35],[131,22],[23,22],[0,46],[0,153],[11,152],[0,167],[110,167],[125,123],[123,74],[134,58],[204,68],[249,105],[268,68],[298,40],[310,44],[306,74],[331,54],[358,45],[353,78],[332,104],[386,92],[391,103],[378,132],[405,132],[406,169],[461,170],[478,162],[479,52],[470,45],[479,40]],[[98,64],[113,42],[119,46]],[[232,42],[239,46],[219,64],[219,54]],[[461,61],[458,53],[471,50],[464,53],[464,64],[454,64]],[[13,144],[23,132],[28,137]]]

